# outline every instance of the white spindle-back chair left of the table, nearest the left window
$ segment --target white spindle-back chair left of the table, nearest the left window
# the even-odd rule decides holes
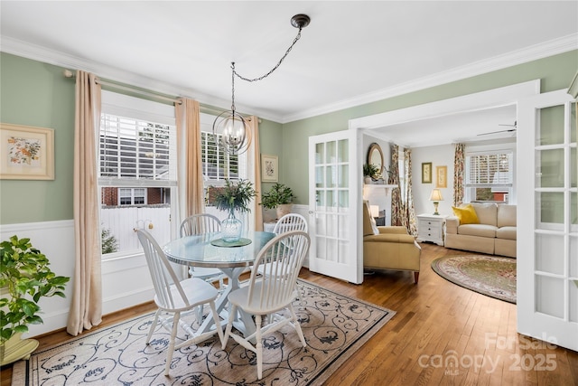
[[[146,344],[151,342],[154,329],[157,324],[170,332],[169,347],[166,353],[166,364],[164,366],[164,375],[169,375],[171,367],[172,353],[181,347],[199,344],[210,338],[215,333],[219,334],[219,340],[223,342],[223,332],[220,326],[219,314],[215,307],[215,299],[219,295],[217,288],[211,286],[200,278],[186,278],[179,281],[171,263],[166,258],[163,249],[154,240],[154,237],[144,230],[137,230],[138,240],[144,249],[146,264],[148,265],[154,286],[154,303],[158,310],[154,314],[153,324],[151,325]],[[191,325],[184,323],[181,319],[183,313],[193,311],[195,307],[208,304],[215,323],[215,330],[198,334],[191,328]],[[175,337],[179,326],[187,333],[187,339],[180,344],[175,344]]]

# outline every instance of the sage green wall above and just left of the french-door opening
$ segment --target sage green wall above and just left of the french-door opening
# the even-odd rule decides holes
[[[450,99],[488,89],[497,89],[528,80],[540,79],[542,92],[566,89],[573,80],[576,69],[578,69],[578,51],[565,52],[395,98],[284,124],[283,155],[279,160],[280,168],[283,171],[283,183],[294,189],[297,195],[296,203],[308,204],[309,177],[308,173],[304,173],[304,171],[309,170],[307,161],[309,137],[346,130],[349,128],[350,119]]]

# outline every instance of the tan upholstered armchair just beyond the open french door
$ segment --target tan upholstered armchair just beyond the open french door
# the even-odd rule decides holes
[[[369,214],[369,202],[363,202],[363,267],[368,269],[408,270],[419,279],[422,249],[405,227],[375,227]]]

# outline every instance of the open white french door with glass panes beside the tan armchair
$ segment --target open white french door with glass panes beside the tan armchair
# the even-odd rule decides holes
[[[359,250],[359,131],[309,138],[309,268],[351,283],[363,281]]]

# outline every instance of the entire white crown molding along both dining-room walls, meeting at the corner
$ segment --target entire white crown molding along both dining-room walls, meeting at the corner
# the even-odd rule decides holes
[[[527,61],[536,61],[538,59],[543,59],[548,56],[553,56],[576,49],[578,49],[578,33],[573,33],[549,42],[532,45],[521,50],[508,52],[506,54],[486,60],[476,61],[471,64],[456,67],[449,71],[439,72],[437,74],[433,74],[432,76],[400,83],[394,87],[369,92],[367,94],[359,95],[355,98],[344,99],[337,103],[332,103],[318,108],[307,109],[297,114],[277,116],[275,114],[271,114],[270,112],[261,111],[256,108],[242,105],[238,105],[238,110],[243,111],[248,115],[256,115],[259,118],[265,118],[284,124],[293,122],[295,120],[328,114],[346,108],[354,108],[360,105],[376,102],[378,100],[393,98],[407,94],[409,92],[418,91],[420,89],[428,89],[455,80],[471,78],[473,76],[481,75],[490,71],[505,69],[517,64],[525,63]],[[202,104],[214,106],[216,108],[228,109],[228,105],[230,103],[228,100],[215,98],[213,96],[200,93],[195,89],[186,89],[174,84],[162,82],[160,80],[143,77],[132,72],[119,70],[104,63],[86,61],[72,55],[49,50],[45,47],[23,42],[8,36],[2,37],[1,50],[2,52],[12,53],[24,58],[46,62],[67,69],[82,69],[84,71],[94,72],[97,73],[99,77],[107,80],[115,80],[135,87],[150,89],[152,91],[166,95],[196,99],[199,100]]]

